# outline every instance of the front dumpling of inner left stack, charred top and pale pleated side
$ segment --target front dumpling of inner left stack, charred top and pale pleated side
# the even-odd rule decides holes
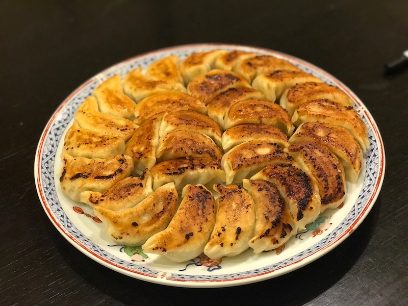
[[[156,164],[151,168],[153,189],[173,182],[177,189],[186,184],[210,185],[225,182],[220,162],[205,158],[177,158]],[[211,185],[212,186],[212,185]]]

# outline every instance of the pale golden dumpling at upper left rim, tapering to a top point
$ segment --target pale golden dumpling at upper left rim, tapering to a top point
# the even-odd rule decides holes
[[[123,93],[119,74],[104,81],[93,91],[101,113],[133,120],[136,103]]]

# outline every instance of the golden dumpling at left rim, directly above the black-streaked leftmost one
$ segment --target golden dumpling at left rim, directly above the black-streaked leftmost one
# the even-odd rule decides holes
[[[124,139],[83,129],[74,121],[65,134],[62,152],[72,157],[108,158],[123,154]]]

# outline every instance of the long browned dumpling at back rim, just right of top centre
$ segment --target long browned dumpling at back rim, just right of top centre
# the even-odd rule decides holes
[[[271,55],[258,55],[244,59],[237,63],[234,71],[243,75],[248,82],[252,82],[259,74],[276,70],[300,70],[295,65]]]

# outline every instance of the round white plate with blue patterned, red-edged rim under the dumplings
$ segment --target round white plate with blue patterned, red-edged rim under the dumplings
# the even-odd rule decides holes
[[[290,61],[326,83],[336,85],[354,100],[354,107],[367,125],[370,149],[360,179],[347,184],[347,199],[341,209],[326,211],[308,230],[298,233],[285,248],[255,255],[250,249],[220,264],[209,266],[205,259],[175,264],[156,255],[125,248],[109,239],[103,224],[96,221],[90,207],[67,198],[60,189],[60,153],[67,126],[79,105],[101,82],[114,74],[125,75],[136,67],[146,68],[163,57],[181,59],[193,52],[216,48],[240,49],[273,55]],[[335,60],[335,59],[334,59]],[[276,277],[307,265],[346,239],[371,210],[380,191],[385,172],[385,152],[378,128],[362,101],[343,83],[322,69],[298,58],[268,49],[224,44],[184,45],[157,50],[118,63],[89,79],[72,92],[47,123],[35,158],[35,182],[45,213],[58,231],[77,249],[96,262],[143,281],[179,287],[226,287],[244,285]],[[83,212],[83,213],[82,213]],[[96,220],[96,221],[95,221]]]

